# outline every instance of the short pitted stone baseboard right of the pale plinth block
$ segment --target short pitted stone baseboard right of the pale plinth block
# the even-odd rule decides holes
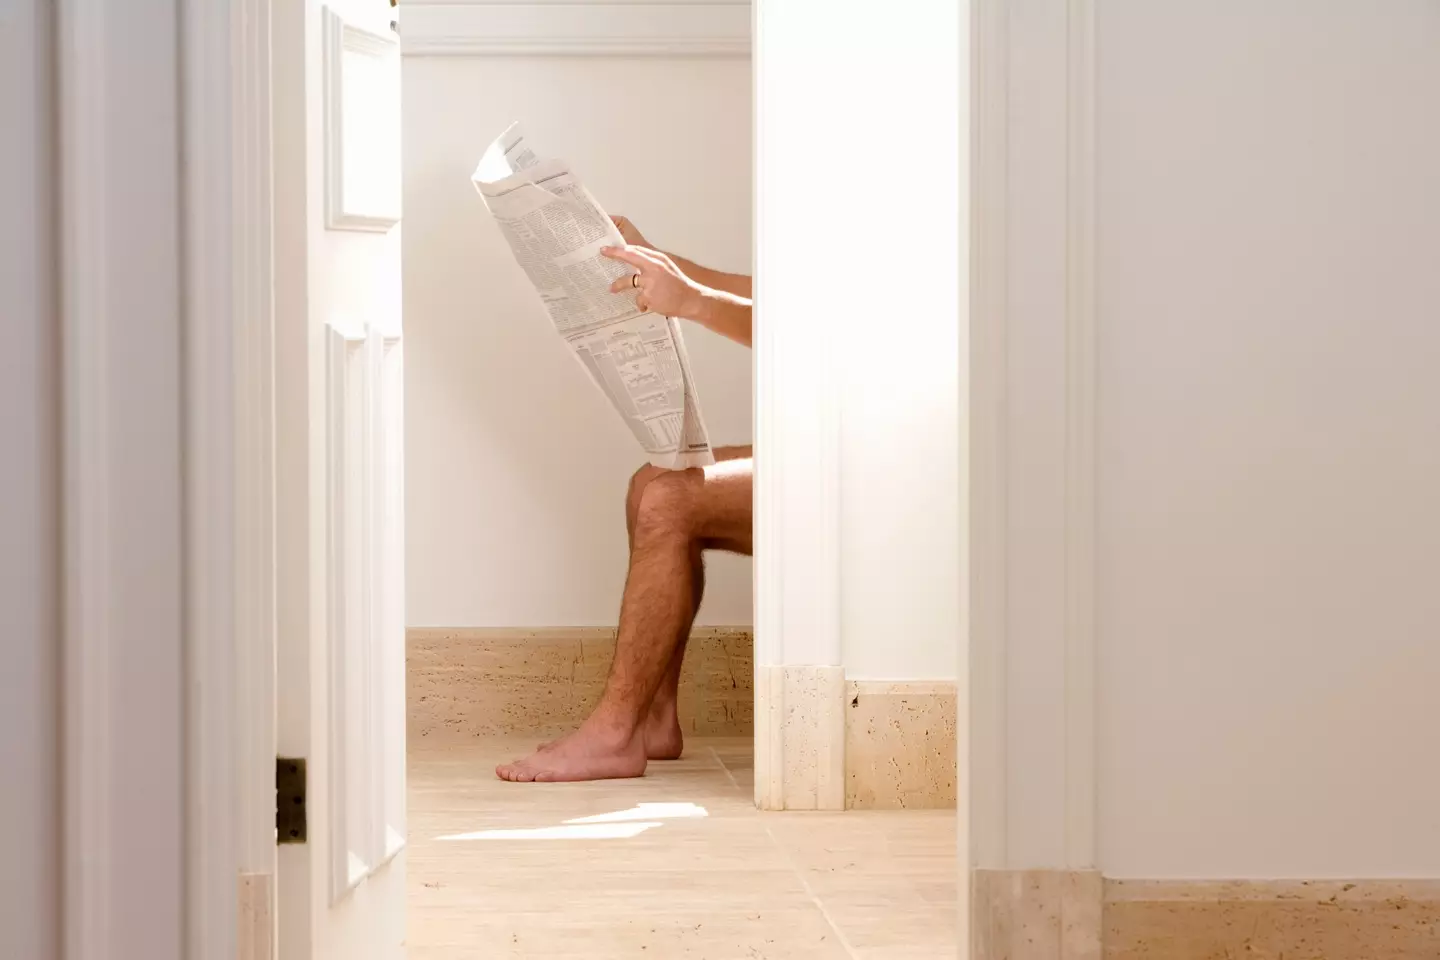
[[[845,806],[955,809],[955,684],[845,684]]]

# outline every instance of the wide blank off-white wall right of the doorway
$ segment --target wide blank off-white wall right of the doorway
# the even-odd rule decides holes
[[[1440,6],[1099,9],[1102,864],[1440,877]]]

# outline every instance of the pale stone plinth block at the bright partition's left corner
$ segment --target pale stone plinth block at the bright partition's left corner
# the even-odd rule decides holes
[[[845,668],[755,671],[755,805],[845,809]]]

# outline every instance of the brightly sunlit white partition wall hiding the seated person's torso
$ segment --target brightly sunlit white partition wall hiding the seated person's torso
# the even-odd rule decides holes
[[[802,471],[772,481],[773,544],[799,557],[783,561],[778,602],[789,609],[776,620],[786,635],[776,655],[834,656],[819,636],[829,620],[812,609],[829,602],[831,574],[809,567],[838,548],[845,676],[952,679],[962,538],[959,6],[899,3],[877,17],[865,4],[793,3],[762,17],[757,322],[789,327],[772,350],[829,351],[772,360],[775,452],[788,472]],[[838,433],[835,452],[811,438],[827,430]],[[821,482],[804,475],[824,471],[835,474],[838,517],[801,518],[831,510]]]

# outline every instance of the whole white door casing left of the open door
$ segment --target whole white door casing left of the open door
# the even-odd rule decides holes
[[[63,956],[232,956],[238,1],[52,9]]]

